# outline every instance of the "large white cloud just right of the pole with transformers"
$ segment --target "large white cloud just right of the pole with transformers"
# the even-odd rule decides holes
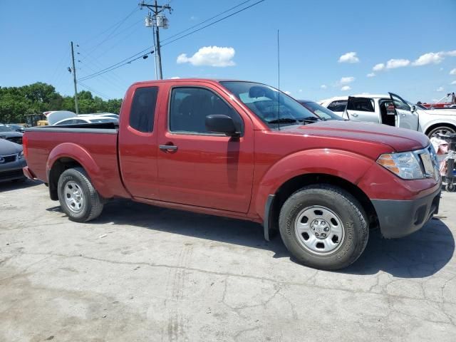
[[[187,57],[186,53],[177,56],[177,64],[190,63],[193,66],[234,66],[234,48],[219,46],[204,46],[192,56]]]

